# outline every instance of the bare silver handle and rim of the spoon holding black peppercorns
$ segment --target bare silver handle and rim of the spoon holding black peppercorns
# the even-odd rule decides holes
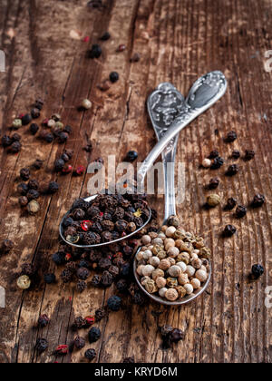
[[[199,116],[200,113],[205,112],[209,107],[216,103],[226,92],[227,89],[227,80],[223,73],[220,72],[211,72],[206,75],[203,75],[199,78],[199,80],[194,83],[192,88],[189,91],[189,96],[187,98],[187,102],[183,104],[180,108],[180,114],[175,119],[175,121],[170,125],[170,128],[165,132],[164,136],[160,139],[160,141],[155,145],[155,147],[151,150],[150,154],[147,156],[145,161],[141,164],[141,168],[137,174],[137,183],[138,193],[144,192],[144,180],[147,174],[147,171],[151,169],[153,162],[156,161],[161,151],[164,150],[165,147],[171,142],[173,138],[184,128],[189,122],[193,121],[195,118]],[[91,197],[86,198],[86,201],[94,200],[97,195],[93,195]],[[143,226],[138,230],[135,230],[133,233],[128,234],[120,239],[114,239],[111,242],[103,242],[96,245],[77,245],[76,243],[72,243],[65,239],[63,234],[63,220],[68,216],[70,210],[63,216],[63,220],[60,223],[60,236],[62,239],[68,244],[76,248],[99,248],[102,246],[110,245],[115,242],[119,242],[122,239],[131,238],[134,234],[139,232],[141,229],[146,226],[151,220],[151,209],[149,209],[150,215],[149,219],[146,220]]]

